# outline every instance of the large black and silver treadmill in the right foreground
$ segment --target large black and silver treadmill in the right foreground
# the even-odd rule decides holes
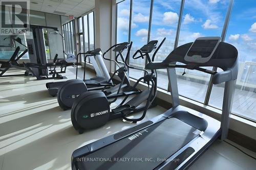
[[[220,37],[200,37],[177,47],[162,62],[147,69],[168,68],[173,108],[135,127],[84,145],[72,154],[72,169],[186,169],[217,138],[227,137],[238,75],[236,47]],[[176,62],[183,63],[176,64]],[[217,72],[202,68],[219,67]],[[196,69],[225,83],[221,122],[181,106],[175,68]]]

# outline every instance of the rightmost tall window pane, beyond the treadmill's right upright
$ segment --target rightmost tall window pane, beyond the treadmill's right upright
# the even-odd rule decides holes
[[[239,72],[232,112],[256,120],[256,2],[234,1],[225,41],[238,49]],[[241,24],[243,23],[243,24]],[[212,88],[209,105],[221,108],[224,83]]]

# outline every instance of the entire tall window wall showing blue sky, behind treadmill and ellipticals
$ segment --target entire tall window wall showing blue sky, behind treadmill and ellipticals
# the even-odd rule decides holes
[[[231,9],[232,3],[229,21],[228,9]],[[255,5],[256,2],[252,0],[246,2],[238,0],[119,1],[116,18],[117,42],[133,41],[130,63],[143,68],[145,60],[133,60],[132,55],[150,40],[157,39],[160,43],[166,37],[165,43],[155,58],[156,61],[162,61],[176,47],[176,44],[179,46],[193,42],[197,37],[202,36],[221,36],[222,40],[236,46],[239,52],[239,75],[232,113],[255,120],[256,21],[253,17],[256,16],[256,10],[253,8]],[[228,26],[227,30],[225,25]],[[208,69],[213,68],[208,67]],[[185,74],[182,76],[183,72]],[[143,74],[143,71],[130,70],[130,77],[135,79]],[[176,68],[176,74],[180,95],[221,109],[224,83],[211,88],[210,75],[196,70]],[[158,71],[158,87],[169,90],[164,69]]]

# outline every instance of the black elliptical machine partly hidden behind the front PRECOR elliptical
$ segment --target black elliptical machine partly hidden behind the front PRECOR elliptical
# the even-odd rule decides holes
[[[119,69],[117,69],[115,71],[115,73],[117,73],[117,76],[121,80],[120,84],[109,87],[110,82],[112,82],[113,77],[115,76],[115,75],[112,75],[110,77],[110,79],[105,83],[106,86],[102,87],[101,91],[103,91],[103,93],[105,95],[117,94],[121,91],[121,89],[126,89],[126,88],[130,87],[130,81],[129,81],[129,78],[127,77],[127,75],[126,75],[127,68],[125,66],[125,63],[121,62],[121,61],[124,61],[122,52],[126,48],[128,48],[127,55],[129,55],[130,50],[131,50],[131,45],[132,45],[132,43],[130,44],[128,42],[115,44],[115,45],[111,46],[109,48],[109,50],[107,50],[102,55],[102,57],[105,60],[114,61],[119,66]],[[115,57],[115,60],[105,58],[106,53],[110,52],[111,50],[113,52],[117,53],[117,55]],[[121,61],[118,61],[119,57],[121,58]],[[86,58],[85,58],[85,60],[86,60]],[[121,67],[118,63],[122,63],[122,64],[124,64],[124,66]],[[98,89],[98,88],[96,87],[96,89]],[[63,110],[70,109],[72,107],[73,103],[74,103],[75,98],[77,98],[80,94],[82,94],[84,92],[89,92],[89,91],[92,91],[92,90],[95,91],[96,89],[93,88],[93,87],[89,89],[87,84],[83,80],[76,80],[76,81],[67,82],[66,84],[61,86],[58,90],[57,99],[58,99],[59,106]]]

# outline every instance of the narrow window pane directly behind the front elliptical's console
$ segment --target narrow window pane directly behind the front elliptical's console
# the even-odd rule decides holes
[[[133,14],[132,14],[132,28],[131,28],[131,41],[133,46],[130,52],[130,65],[137,68],[144,68],[145,58],[134,60],[132,56],[134,53],[147,43],[148,34],[148,21],[150,16],[150,0],[134,0],[133,1]],[[144,76],[144,71],[131,69],[129,72],[131,78],[139,79]]]

